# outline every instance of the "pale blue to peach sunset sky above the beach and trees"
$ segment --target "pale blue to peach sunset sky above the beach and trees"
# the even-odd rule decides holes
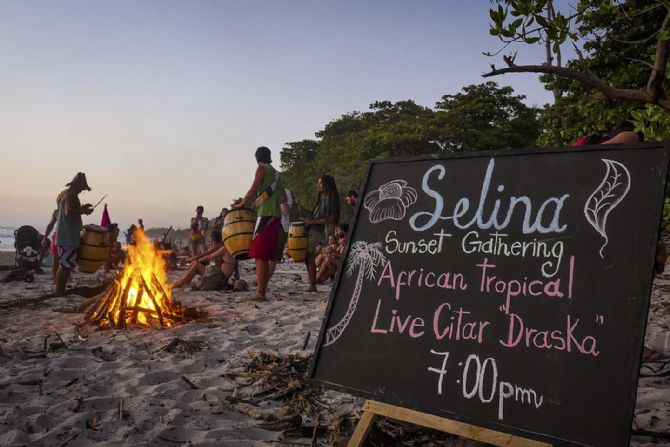
[[[188,227],[249,189],[254,151],[377,100],[434,106],[484,79],[488,0],[0,0],[0,225],[44,228],[85,172],[122,229]],[[517,63],[541,63],[542,47]],[[315,179],[316,180],[316,179]],[[84,223],[100,223],[102,206]]]

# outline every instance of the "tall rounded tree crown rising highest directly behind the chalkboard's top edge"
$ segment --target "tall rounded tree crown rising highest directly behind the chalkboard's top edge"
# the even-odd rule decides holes
[[[515,149],[535,144],[538,110],[495,82],[463,87],[436,104],[437,140],[448,152]]]

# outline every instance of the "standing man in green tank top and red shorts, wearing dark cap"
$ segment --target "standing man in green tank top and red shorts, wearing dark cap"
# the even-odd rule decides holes
[[[281,231],[281,204],[286,203],[284,181],[279,171],[272,167],[270,149],[256,149],[256,174],[251,188],[233,208],[242,208],[252,202],[256,207],[256,227],[249,247],[249,257],[256,260],[258,289],[253,298],[265,301],[265,292],[270,279],[270,261],[278,259]]]

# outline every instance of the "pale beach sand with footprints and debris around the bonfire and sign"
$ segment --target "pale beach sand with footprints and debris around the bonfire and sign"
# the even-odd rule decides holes
[[[11,255],[1,253],[0,265],[11,263]],[[183,273],[171,273],[170,280]],[[253,285],[252,263],[243,263],[241,274]],[[71,285],[102,280],[101,273],[75,272]],[[311,433],[287,435],[291,414],[278,401],[245,402],[253,377],[235,374],[259,353],[304,357],[314,351],[331,287],[304,293],[306,281],[302,264],[282,263],[267,302],[247,301],[252,292],[178,289],[175,299],[202,307],[208,318],[160,330],[79,325],[82,314],[73,310],[84,298],[75,295],[0,310],[0,445],[310,445]],[[47,273],[33,283],[0,284],[0,304],[51,291]],[[654,285],[647,342],[664,354],[670,354],[668,309],[670,275],[662,275]],[[664,368],[645,363],[641,373]],[[634,429],[670,431],[668,377],[640,379]],[[353,425],[360,416],[362,399],[334,391],[323,399],[321,425],[340,416]],[[300,419],[298,427],[313,427],[309,416]],[[316,441],[331,445],[334,439],[326,431]],[[483,444],[450,437],[422,445]],[[631,445],[670,443],[634,435]]]

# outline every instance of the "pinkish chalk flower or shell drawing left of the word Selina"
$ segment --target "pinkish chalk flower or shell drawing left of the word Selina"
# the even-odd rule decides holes
[[[402,220],[407,208],[416,203],[416,189],[404,180],[392,180],[365,196],[363,206],[370,211],[370,222]]]

